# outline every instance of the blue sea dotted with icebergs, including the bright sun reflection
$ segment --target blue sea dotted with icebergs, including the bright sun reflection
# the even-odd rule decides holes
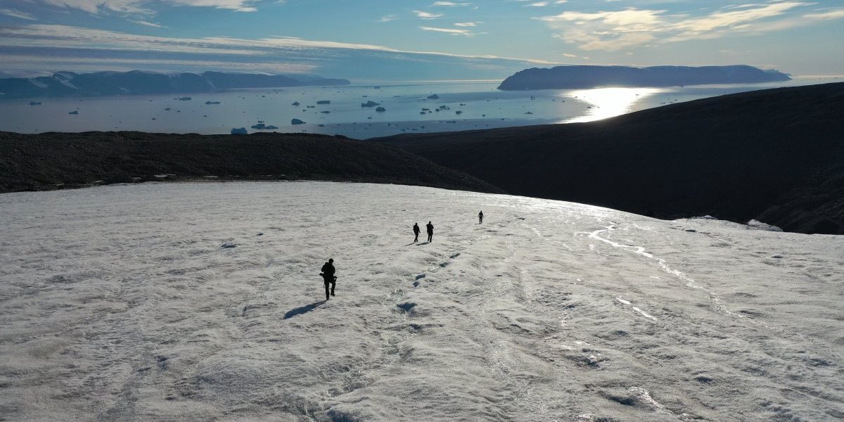
[[[500,91],[498,81],[236,89],[213,94],[0,100],[0,131],[18,133],[143,131],[230,133],[262,122],[261,132],[341,134],[373,138],[548,123],[589,122],[675,102],[781,86],[840,82],[795,78],[771,84],[674,88]],[[439,98],[429,99],[430,95]],[[317,104],[327,100],[330,104]],[[30,101],[41,102],[31,106]],[[212,103],[219,104],[207,104]],[[376,107],[362,107],[374,101]],[[293,106],[299,103],[299,106]],[[70,114],[76,112],[76,114]],[[305,124],[293,125],[292,119]]]

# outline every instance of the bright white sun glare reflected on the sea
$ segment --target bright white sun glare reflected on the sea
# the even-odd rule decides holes
[[[564,123],[594,122],[632,111],[637,101],[665,92],[658,88],[597,88],[572,91],[568,96],[591,104],[585,116],[565,120]]]

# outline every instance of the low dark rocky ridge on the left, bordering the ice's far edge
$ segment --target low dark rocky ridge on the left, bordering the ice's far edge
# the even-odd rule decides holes
[[[0,192],[197,179],[366,181],[502,192],[401,149],[344,137],[0,132]]]

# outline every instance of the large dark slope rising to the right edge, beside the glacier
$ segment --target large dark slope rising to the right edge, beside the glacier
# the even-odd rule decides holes
[[[724,95],[600,122],[375,141],[516,195],[844,234],[844,83]]]

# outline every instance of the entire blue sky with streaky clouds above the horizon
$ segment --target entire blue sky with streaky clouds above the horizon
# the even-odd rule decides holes
[[[841,0],[3,0],[0,73],[226,70],[354,81],[557,64],[844,74]]]

